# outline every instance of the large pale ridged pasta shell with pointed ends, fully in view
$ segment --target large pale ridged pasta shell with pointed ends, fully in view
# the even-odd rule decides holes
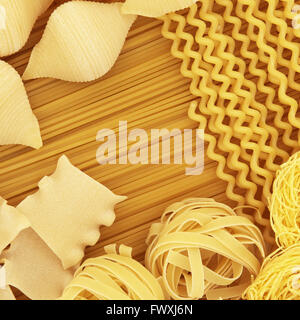
[[[71,1],[61,5],[34,47],[23,79],[85,82],[100,78],[117,60],[135,18],[122,15],[120,3]]]

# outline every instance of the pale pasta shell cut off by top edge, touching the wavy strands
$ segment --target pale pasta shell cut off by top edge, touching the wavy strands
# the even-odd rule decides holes
[[[188,8],[198,0],[127,0],[122,6],[124,14],[157,18],[167,13]]]

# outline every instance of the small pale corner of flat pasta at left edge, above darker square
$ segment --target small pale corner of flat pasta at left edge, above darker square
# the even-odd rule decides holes
[[[28,219],[0,197],[0,255],[19,232],[29,226]]]

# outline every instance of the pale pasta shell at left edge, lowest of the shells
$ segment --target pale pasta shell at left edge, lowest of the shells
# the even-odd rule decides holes
[[[22,79],[4,61],[0,61],[0,144],[23,144],[36,149],[43,144]]]

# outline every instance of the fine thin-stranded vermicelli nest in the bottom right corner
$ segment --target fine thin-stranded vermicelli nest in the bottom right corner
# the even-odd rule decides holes
[[[279,248],[246,290],[248,300],[300,300],[300,245]]]

